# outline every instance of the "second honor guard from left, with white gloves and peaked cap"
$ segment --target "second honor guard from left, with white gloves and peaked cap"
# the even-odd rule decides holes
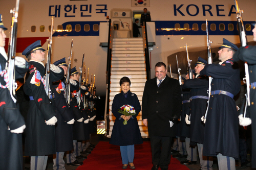
[[[24,51],[29,60],[29,76],[24,85],[24,92],[29,95],[29,111],[27,115],[27,130],[25,139],[25,156],[31,157],[31,169],[46,169],[47,155],[56,154],[55,148],[55,105],[50,100],[54,100],[53,94],[46,94],[45,81],[45,60],[44,49],[41,41],[37,40],[29,45]],[[62,68],[50,65],[49,86],[63,78]]]

